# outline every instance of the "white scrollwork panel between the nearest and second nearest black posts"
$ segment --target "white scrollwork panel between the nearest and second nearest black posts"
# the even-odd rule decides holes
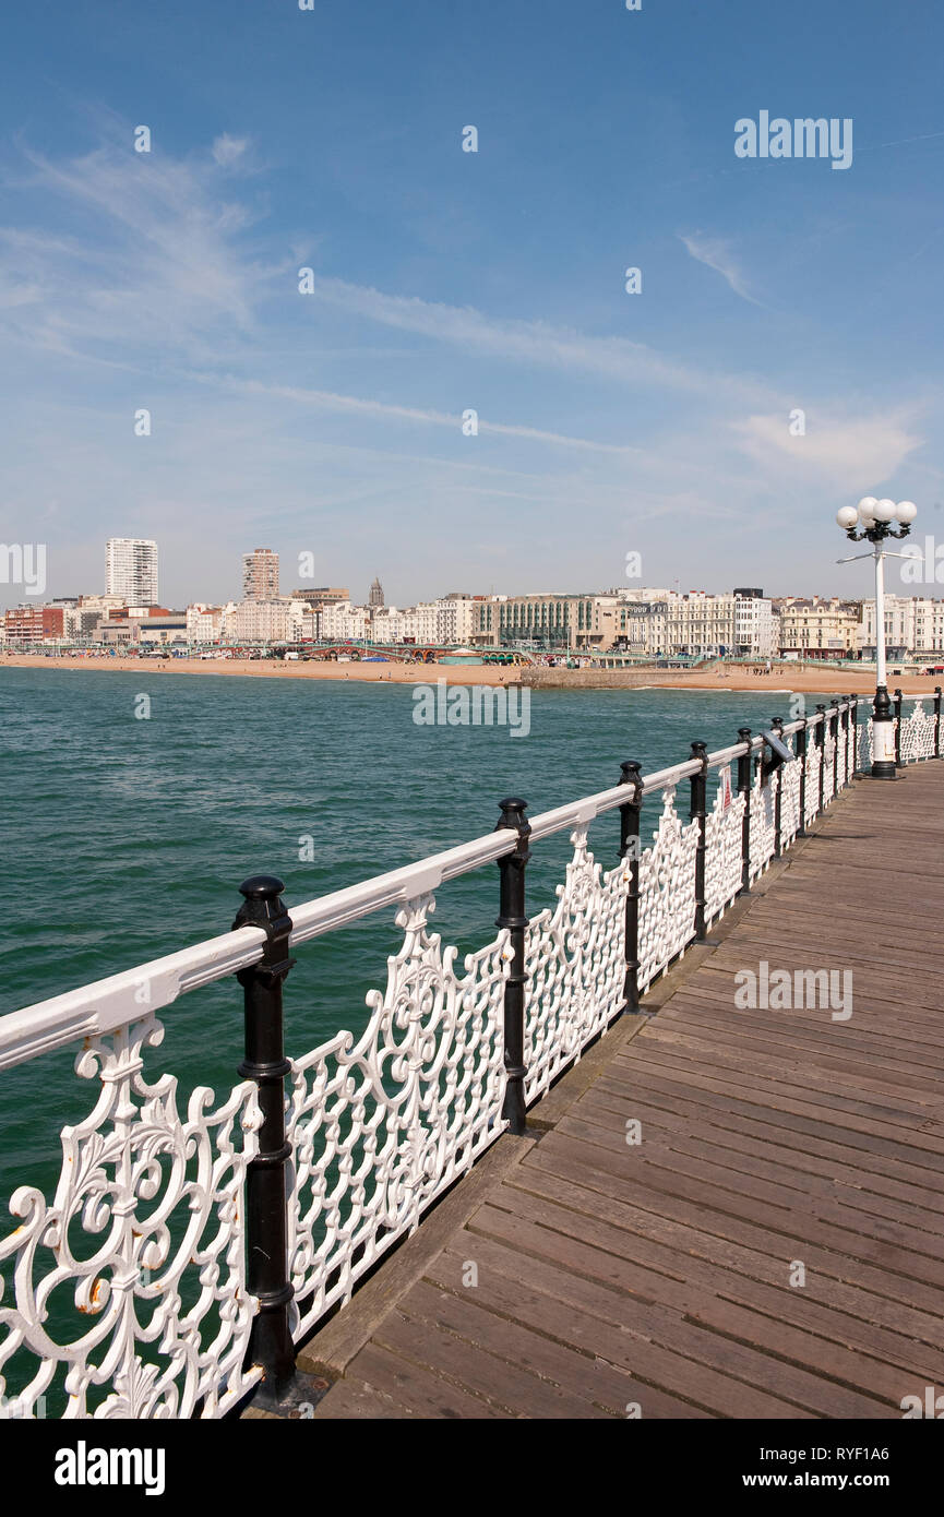
[[[426,931],[431,894],[398,912],[401,951],[370,1019],[293,1063],[290,1274],[304,1333],[504,1130],[508,934],[466,956]]]

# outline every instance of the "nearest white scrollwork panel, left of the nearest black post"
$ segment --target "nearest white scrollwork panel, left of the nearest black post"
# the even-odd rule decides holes
[[[11,1198],[20,1226],[0,1241],[0,1262],[15,1261],[0,1368],[20,1385],[3,1415],[36,1415],[52,1388],[70,1418],[220,1417],[258,1380],[243,1373],[256,1309],[243,1204],[255,1086],[217,1110],[199,1088],[182,1121],[176,1079],[144,1077],[143,1048],[162,1035],[149,1015],[88,1041],[76,1069],[102,1091],[62,1130],[56,1195],[47,1204],[21,1186]]]

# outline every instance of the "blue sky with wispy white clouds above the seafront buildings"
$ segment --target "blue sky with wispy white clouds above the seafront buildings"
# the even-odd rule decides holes
[[[17,8],[0,539],[62,595],[153,536],[168,605],[253,546],[396,604],[630,551],[868,593],[839,505],[944,532],[942,44],[933,0]],[[736,158],[762,109],[851,118],[851,167]]]

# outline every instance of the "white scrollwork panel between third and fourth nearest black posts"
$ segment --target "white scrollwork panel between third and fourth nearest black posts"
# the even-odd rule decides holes
[[[653,846],[639,860],[639,989],[651,985],[695,936],[698,822],[681,822],[675,786],[662,792]]]

